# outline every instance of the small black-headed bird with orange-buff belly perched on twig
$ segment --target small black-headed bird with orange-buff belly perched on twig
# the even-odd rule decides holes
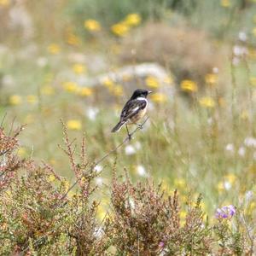
[[[120,131],[123,125],[126,126],[128,137],[131,138],[127,125],[138,125],[137,122],[143,118],[147,112],[148,107],[148,94],[152,93],[151,90],[137,89],[133,92],[131,98],[125,103],[125,107],[122,109],[120,119],[117,125],[112,129],[112,132]],[[142,127],[141,127],[142,128]]]

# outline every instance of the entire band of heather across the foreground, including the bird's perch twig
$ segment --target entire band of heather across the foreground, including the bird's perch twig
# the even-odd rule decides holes
[[[3,154],[18,149],[19,132],[6,137],[2,129]],[[202,210],[201,195],[195,200],[189,194],[181,201],[177,190],[171,195],[152,178],[132,183],[126,170],[125,177],[118,176],[116,163],[108,187],[109,210],[100,220],[96,163],[86,157],[84,138],[77,151],[64,124],[63,137],[60,147],[67,154],[75,182],[70,185],[47,163],[40,166],[32,159],[20,160],[22,165],[12,169],[15,176],[4,183],[0,194],[1,254],[253,255],[253,223],[246,221],[240,209],[224,206],[209,219]]]

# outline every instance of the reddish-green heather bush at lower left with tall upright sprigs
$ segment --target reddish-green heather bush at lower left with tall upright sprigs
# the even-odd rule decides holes
[[[74,162],[72,144],[64,127],[66,148],[71,168],[78,176],[80,190],[71,198],[65,178],[55,174],[47,164],[38,166],[32,160],[25,161],[26,174],[9,181],[0,198],[1,253],[73,254],[95,255],[105,249],[104,236],[96,222],[97,202],[90,201],[92,172],[84,170],[85,148],[81,146],[81,162]],[[15,137],[17,134],[15,133]],[[15,137],[8,137],[5,153],[11,154],[10,144]],[[9,170],[9,169],[8,169]],[[90,168],[91,170],[91,168]],[[15,172],[20,166],[15,166]],[[83,175],[83,177],[79,177]]]

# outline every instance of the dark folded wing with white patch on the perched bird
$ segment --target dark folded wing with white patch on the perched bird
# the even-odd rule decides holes
[[[131,100],[126,102],[125,107],[121,113],[121,120],[126,121],[130,119],[134,114],[137,114],[143,108],[146,108],[147,101]]]

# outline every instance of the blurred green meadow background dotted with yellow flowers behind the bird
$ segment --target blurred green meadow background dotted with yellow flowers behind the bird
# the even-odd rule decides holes
[[[110,131],[131,92],[149,88],[143,131],[96,167],[103,195],[117,158],[134,181],[152,177],[184,200],[201,193],[208,213],[247,204],[256,176],[255,11],[253,0],[0,0],[0,117],[7,130],[27,124],[18,154],[72,181],[60,119],[78,143],[85,134],[96,161],[125,138],[125,129]]]

